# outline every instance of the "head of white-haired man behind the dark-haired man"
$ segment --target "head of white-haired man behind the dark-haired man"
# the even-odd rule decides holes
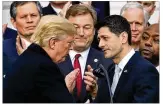
[[[128,2],[120,12],[120,15],[130,23],[132,33],[132,47],[138,51],[140,38],[147,26],[149,14],[144,10],[142,5],[137,2]]]

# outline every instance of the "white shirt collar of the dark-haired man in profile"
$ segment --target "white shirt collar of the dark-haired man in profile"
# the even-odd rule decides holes
[[[134,49],[131,49],[130,52],[119,62],[118,66],[121,70],[124,69],[130,58],[135,54]]]

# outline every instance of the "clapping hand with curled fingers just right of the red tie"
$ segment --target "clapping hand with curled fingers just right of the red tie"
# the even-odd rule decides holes
[[[93,75],[93,69],[90,65],[87,66],[87,69],[88,71],[85,72],[84,75],[86,90],[91,94],[93,98],[95,98],[98,90],[97,78]]]

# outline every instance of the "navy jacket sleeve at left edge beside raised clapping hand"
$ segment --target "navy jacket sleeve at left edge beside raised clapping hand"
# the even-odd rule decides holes
[[[16,38],[6,39],[3,41],[3,53],[8,57],[11,64],[18,58],[16,50]]]

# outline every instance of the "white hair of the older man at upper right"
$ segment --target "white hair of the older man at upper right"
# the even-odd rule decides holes
[[[144,14],[144,22],[145,22],[145,25],[147,25],[148,20],[150,18],[149,13],[143,8],[143,6],[141,4],[139,4],[137,2],[128,2],[128,3],[126,3],[122,7],[122,9],[120,11],[120,15],[123,16],[124,11],[126,11],[127,9],[130,9],[130,8],[139,8],[139,9],[141,9],[143,11],[143,14]]]

